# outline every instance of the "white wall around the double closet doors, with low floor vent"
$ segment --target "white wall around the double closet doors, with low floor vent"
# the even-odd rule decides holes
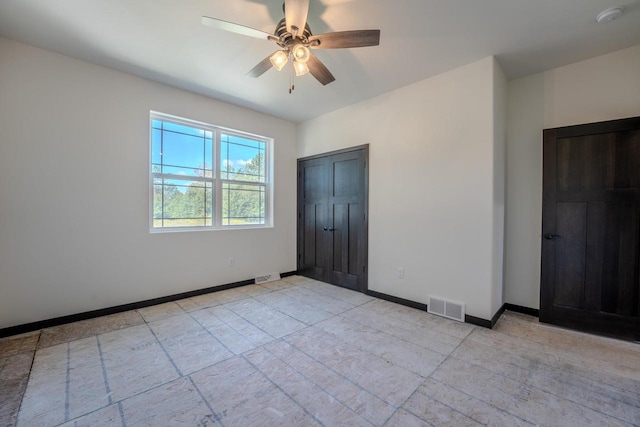
[[[496,66],[486,58],[299,125],[299,157],[370,144],[369,289],[463,301],[483,319],[502,304]]]

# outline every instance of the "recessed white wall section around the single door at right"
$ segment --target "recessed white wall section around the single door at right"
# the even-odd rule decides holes
[[[505,301],[539,308],[542,130],[640,116],[640,46],[509,82]]]

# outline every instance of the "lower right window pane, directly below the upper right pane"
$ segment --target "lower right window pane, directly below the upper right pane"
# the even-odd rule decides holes
[[[266,189],[259,184],[222,184],[222,225],[264,224]]]

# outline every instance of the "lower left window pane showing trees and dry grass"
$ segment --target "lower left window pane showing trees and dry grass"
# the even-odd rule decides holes
[[[156,178],[153,182],[153,226],[211,226],[211,182]]]

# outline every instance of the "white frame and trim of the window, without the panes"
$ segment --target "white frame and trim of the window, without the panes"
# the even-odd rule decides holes
[[[211,131],[213,134],[213,147],[212,147],[212,177],[185,177],[183,175],[162,174],[164,177],[170,177],[178,180],[188,181],[203,181],[212,182],[212,189],[214,194],[213,200],[213,212],[212,212],[212,225],[202,225],[195,227],[154,227],[153,226],[153,178],[154,173],[152,170],[153,164],[153,120],[165,120],[185,126],[198,127],[207,131]],[[221,150],[221,135],[235,135],[239,137],[251,138],[265,143],[265,165],[266,174],[265,182],[255,181],[242,181],[222,179],[220,170],[220,150]],[[171,114],[161,113],[158,111],[150,111],[149,113],[149,160],[147,165],[149,167],[149,232],[150,233],[176,233],[176,232],[190,232],[190,231],[221,231],[221,230],[243,230],[243,229],[256,229],[256,228],[273,228],[273,151],[274,140],[262,135],[257,135],[249,132],[243,132],[236,129],[225,128],[222,126],[216,126],[210,123],[204,123],[197,120],[186,119],[184,117],[173,116]],[[265,188],[265,223],[264,224],[237,224],[237,225],[223,225],[222,224],[222,184],[223,183],[237,183],[237,184],[250,184],[250,185],[262,185]]]

